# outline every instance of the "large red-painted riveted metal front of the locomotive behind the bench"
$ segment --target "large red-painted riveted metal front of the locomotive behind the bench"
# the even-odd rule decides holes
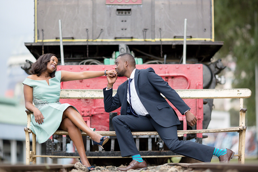
[[[137,69],[152,67],[173,89],[202,89],[202,65],[200,64],[141,64],[136,65]],[[58,70],[81,72],[81,71],[103,71],[114,69],[115,65],[65,65],[59,66]],[[126,81],[126,77],[118,77],[113,89],[117,89],[120,84]],[[68,81],[61,83],[61,89],[103,89],[107,86],[105,76]],[[197,129],[202,129],[203,121],[203,99],[184,99],[185,103],[191,108],[191,112],[198,118]],[[92,128],[98,131],[109,130],[109,113],[104,110],[103,99],[60,99],[61,103],[69,103],[77,108],[83,119]],[[169,102],[175,109],[175,107]],[[175,109],[180,120],[184,121],[186,130],[185,116]],[[120,115],[120,108],[115,110]],[[165,119],[164,119],[165,120]],[[197,134],[202,138],[202,134]]]

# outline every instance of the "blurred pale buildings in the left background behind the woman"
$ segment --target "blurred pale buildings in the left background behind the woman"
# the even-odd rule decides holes
[[[0,97],[0,163],[26,164],[26,143],[24,127],[27,126],[27,115],[24,103],[22,82],[28,74],[21,69],[26,60],[35,62],[32,54],[11,56],[7,60],[7,84],[5,97]],[[30,135],[30,141],[32,137]],[[32,148],[32,143],[31,146]],[[74,152],[73,143],[67,144],[67,151]],[[38,155],[46,153],[46,143],[36,143]],[[37,158],[40,163],[71,164],[73,159]]]

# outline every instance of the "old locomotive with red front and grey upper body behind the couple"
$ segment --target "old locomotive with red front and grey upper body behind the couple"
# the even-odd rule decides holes
[[[186,64],[182,64],[185,18],[187,49]],[[59,20],[62,21],[62,43]],[[60,44],[63,44],[63,59]],[[116,56],[129,52],[136,59],[137,69],[152,67],[173,89],[214,88],[218,83],[215,75],[225,68],[221,60],[211,62],[223,45],[223,42],[214,41],[213,0],[35,0],[34,42],[25,45],[35,58],[43,53],[56,54],[59,61],[64,61],[58,70],[74,72],[114,69]],[[118,78],[113,89],[125,80]],[[102,89],[106,85],[107,79],[98,77],[61,83],[61,89]],[[176,110],[183,124],[179,129],[206,129],[212,99],[184,101],[197,116],[198,123],[195,128],[187,126],[184,116]],[[60,102],[74,105],[90,127],[112,130],[110,114],[104,111],[102,99],[61,99]],[[119,115],[120,109],[115,112]],[[202,134],[185,136],[184,139],[193,137],[202,142]],[[52,140],[48,140],[47,154],[77,155],[62,150],[60,145],[65,143],[62,138],[56,139],[59,146],[53,146]],[[152,145],[159,153],[146,150],[146,137],[136,139],[142,140],[142,156],[174,155],[166,151],[157,138],[152,138]],[[114,145],[99,153],[94,152],[89,144],[89,140],[85,142],[88,156],[120,156],[119,147]]]

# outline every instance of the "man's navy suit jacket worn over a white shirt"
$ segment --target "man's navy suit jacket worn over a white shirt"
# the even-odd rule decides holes
[[[176,91],[172,89],[159,75],[157,75],[152,68],[136,69],[134,84],[138,97],[151,118],[163,127],[170,127],[181,123],[175,110],[173,110],[160,93],[162,93],[181,114],[191,109],[185,104]],[[105,112],[112,112],[121,107],[121,115],[127,115],[129,113],[127,88],[128,81],[125,81],[119,85],[114,97],[112,97],[113,89],[103,89]]]

